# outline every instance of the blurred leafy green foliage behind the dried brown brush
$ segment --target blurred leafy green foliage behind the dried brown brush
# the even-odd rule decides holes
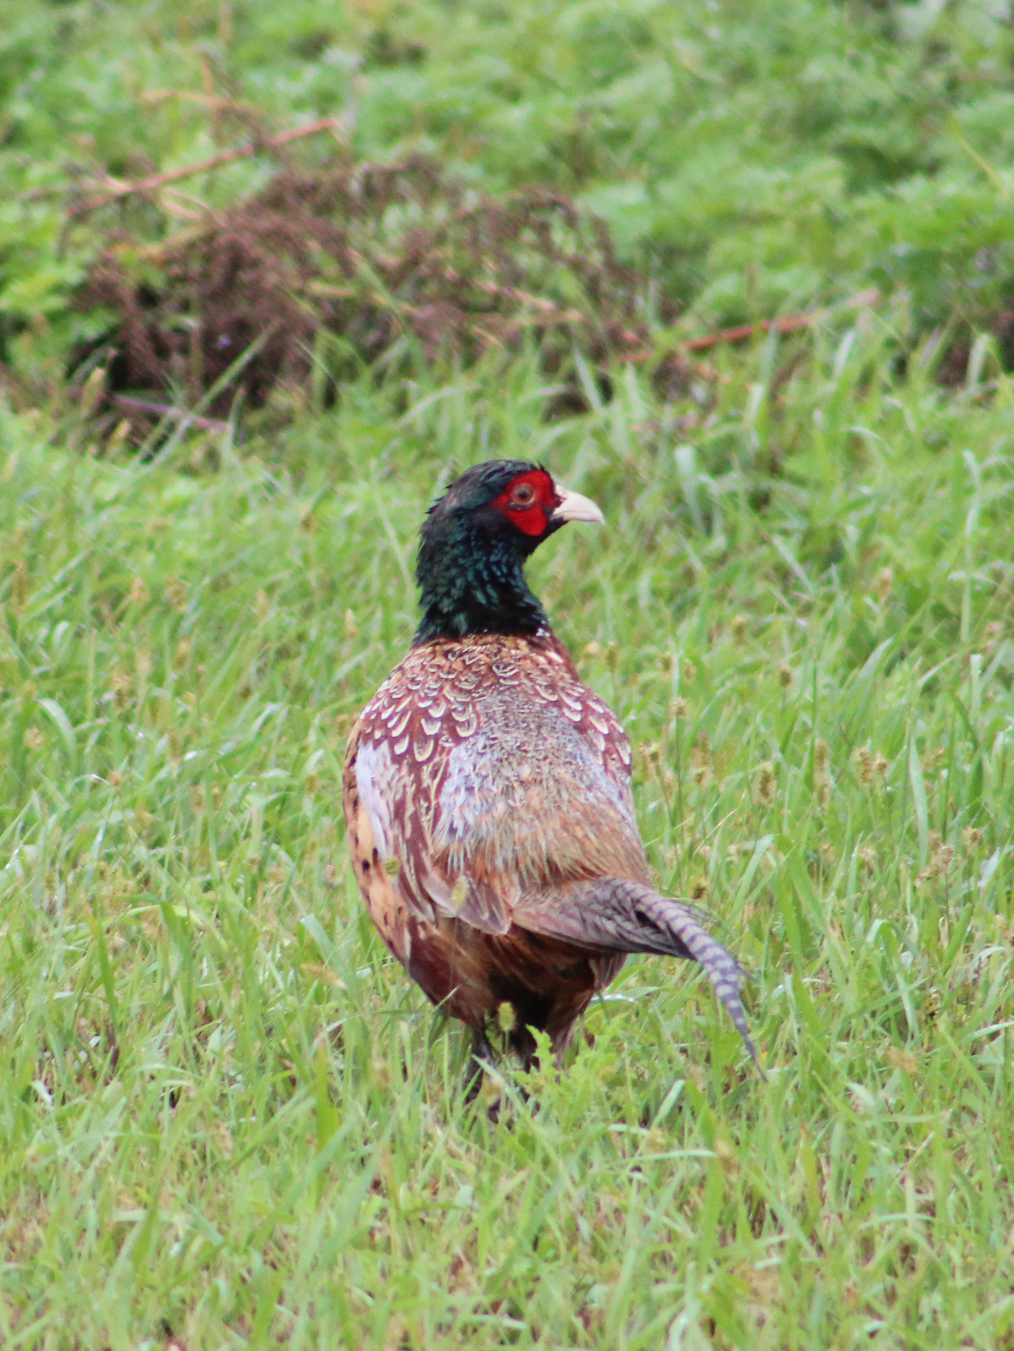
[[[556,186],[696,331],[875,284],[903,299],[903,342],[990,328],[1014,355],[1007,0],[1,8],[0,362],[15,374],[65,366],[101,327],[70,301],[110,231],[185,228],[277,162],[187,180],[168,213],[135,201],[73,230],[68,185],[249,141],[242,109],[276,131],[337,116],[354,159],[426,151],[487,193]]]

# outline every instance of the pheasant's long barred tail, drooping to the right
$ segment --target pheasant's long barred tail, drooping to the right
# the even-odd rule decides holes
[[[760,1069],[740,998],[746,973],[733,954],[711,938],[699,912],[641,882],[596,877],[566,882],[523,901],[514,912],[514,923],[534,934],[611,952],[658,952],[700,962]]]

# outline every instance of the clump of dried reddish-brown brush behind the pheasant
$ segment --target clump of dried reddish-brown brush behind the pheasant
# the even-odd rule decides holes
[[[158,246],[119,234],[82,308],[112,315],[112,389],[206,396],[276,385],[334,397],[343,374],[403,343],[472,361],[526,334],[560,374],[575,345],[599,370],[648,355],[638,278],[606,224],[558,192],[473,193],[433,159],[284,168],[256,196]],[[330,339],[330,340],[329,340]],[[393,355],[393,354],[392,354]]]

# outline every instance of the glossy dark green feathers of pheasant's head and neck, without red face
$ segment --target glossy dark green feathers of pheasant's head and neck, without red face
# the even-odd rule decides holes
[[[468,634],[535,634],[549,626],[525,581],[525,561],[556,527],[526,536],[493,503],[533,467],[518,459],[476,465],[430,508],[415,569],[423,612],[416,646]]]

